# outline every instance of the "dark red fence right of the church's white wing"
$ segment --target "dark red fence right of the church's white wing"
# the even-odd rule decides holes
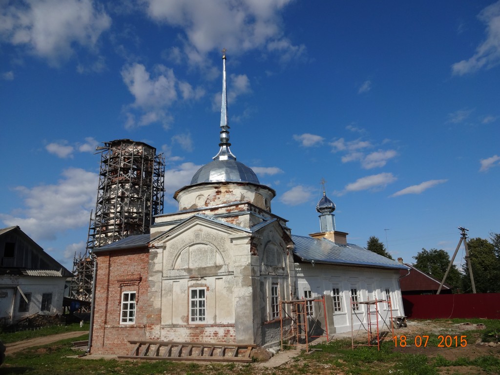
[[[404,313],[415,319],[500,319],[500,293],[403,295]]]

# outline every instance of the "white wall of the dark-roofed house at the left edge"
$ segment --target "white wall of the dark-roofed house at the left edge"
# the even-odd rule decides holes
[[[14,276],[0,277],[0,290],[7,288],[10,290],[8,299],[11,303],[11,292],[13,289],[13,315],[12,321],[17,321],[23,317],[41,313],[41,314],[60,314],[62,313],[62,299],[64,297],[65,277],[52,276]],[[19,312],[19,299],[22,298],[17,290],[17,285],[23,293],[31,293],[29,311]],[[14,289],[15,288],[15,289]],[[50,311],[40,311],[42,293],[52,293],[52,302]],[[2,316],[0,316],[2,317]]]

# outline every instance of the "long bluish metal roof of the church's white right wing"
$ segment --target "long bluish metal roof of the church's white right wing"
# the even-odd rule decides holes
[[[404,264],[352,243],[342,244],[326,238],[318,239],[293,234],[291,239],[294,243],[293,253],[304,261],[408,269]]]

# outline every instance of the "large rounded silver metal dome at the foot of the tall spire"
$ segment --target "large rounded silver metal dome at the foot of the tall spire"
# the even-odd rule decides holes
[[[260,184],[256,174],[236,160],[213,160],[192,176],[191,185],[200,182],[251,182]]]

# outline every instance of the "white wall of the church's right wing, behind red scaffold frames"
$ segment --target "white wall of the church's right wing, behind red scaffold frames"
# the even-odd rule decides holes
[[[313,267],[304,263],[295,263],[295,272],[297,297],[299,298],[303,297],[304,290],[311,290],[313,296],[324,294],[325,297],[331,298],[332,288],[339,289],[342,310],[338,312],[331,311],[337,333],[351,330],[351,317],[355,330],[358,328],[363,329],[362,325],[366,326],[367,305],[359,304],[359,310],[355,312],[355,315],[351,315],[350,289],[353,287],[358,291],[359,301],[374,300],[375,298],[385,299],[385,288],[390,288],[392,315],[404,315],[397,270],[324,264],[316,264]],[[391,311],[387,308],[387,303],[379,303],[378,308],[382,317],[389,324]],[[316,308],[314,310],[315,315],[317,311]],[[375,321],[374,316],[372,321]],[[381,323],[382,319],[379,317],[379,324]]]

